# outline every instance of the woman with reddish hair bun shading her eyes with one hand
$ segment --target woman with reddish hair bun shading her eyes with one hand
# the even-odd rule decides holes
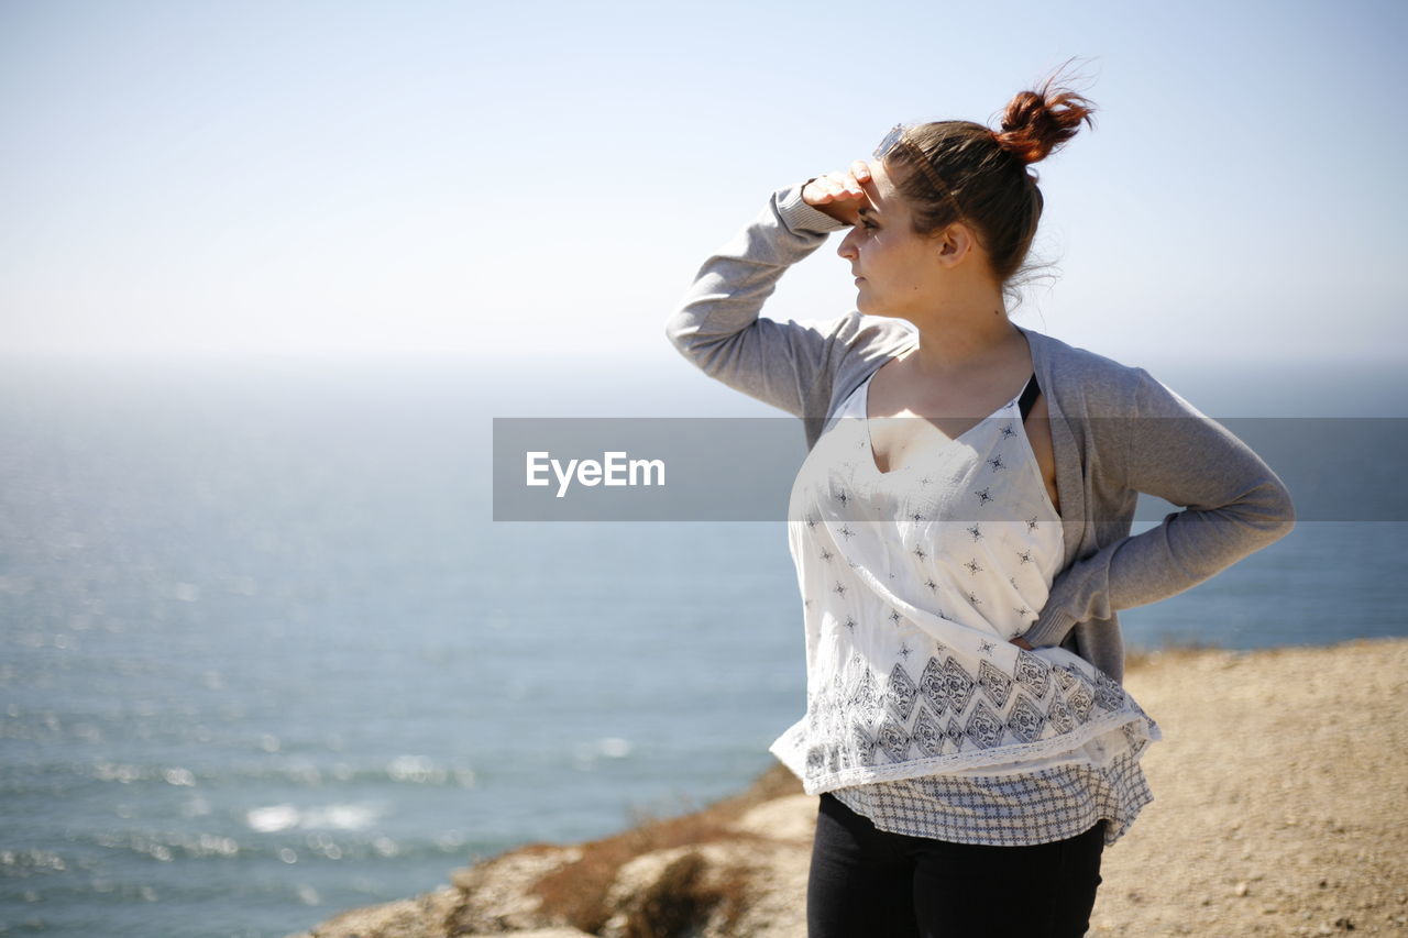
[[[708,375],[807,430],[788,510],[807,714],[773,752],[821,794],[812,938],[1084,934],[1159,738],[1119,684],[1117,610],[1293,525],[1225,428],[1008,318],[1042,211],[1026,166],[1093,110],[1053,80],[1001,131],[897,127],[874,159],[774,193],[669,323]],[[857,311],[759,317],[848,225]],[[1131,537],[1140,492],[1186,507]]]

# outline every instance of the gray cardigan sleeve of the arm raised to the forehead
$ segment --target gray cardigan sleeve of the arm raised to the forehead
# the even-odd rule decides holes
[[[773,193],[767,207],[704,262],[666,324],[674,346],[705,375],[804,417],[818,379],[829,375],[838,339],[855,313],[815,323],[759,317],[788,266],[846,225],[808,206],[803,186]]]

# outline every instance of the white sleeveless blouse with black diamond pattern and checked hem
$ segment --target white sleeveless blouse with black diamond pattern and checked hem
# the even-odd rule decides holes
[[[884,473],[869,386],[793,487],[808,707],[773,752],[880,830],[1011,846],[1104,818],[1112,844],[1152,801],[1139,756],[1157,727],[1084,659],[1008,644],[1062,559],[1022,425],[1035,375],[934,458]]]

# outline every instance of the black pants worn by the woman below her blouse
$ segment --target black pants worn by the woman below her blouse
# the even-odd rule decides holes
[[[1100,886],[1104,825],[1035,846],[949,844],[877,830],[822,794],[808,938],[1084,935]]]

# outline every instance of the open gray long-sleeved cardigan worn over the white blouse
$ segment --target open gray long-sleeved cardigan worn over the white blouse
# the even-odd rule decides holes
[[[759,217],[704,262],[666,334],[710,377],[801,417],[808,449],[872,372],[918,345],[903,320],[848,313],[759,317],[777,279],[845,225],[773,193]],[[1294,525],[1286,484],[1246,444],[1142,368],[1018,327],[1046,394],[1064,556],[1025,634],[1124,679],[1117,610],[1201,583]],[[1131,537],[1138,493],[1181,511]]]

